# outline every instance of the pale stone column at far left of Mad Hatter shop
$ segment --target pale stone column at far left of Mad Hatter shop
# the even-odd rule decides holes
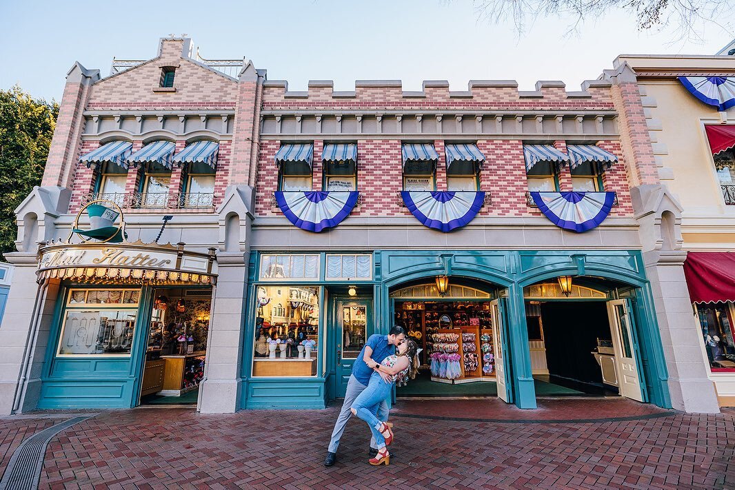
[[[9,415],[36,408],[59,281],[36,283],[35,253],[5,257],[15,265],[0,326],[0,414]]]

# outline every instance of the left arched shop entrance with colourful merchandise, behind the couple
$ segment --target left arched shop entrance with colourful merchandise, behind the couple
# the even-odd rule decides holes
[[[415,380],[398,397],[500,397],[506,383],[504,300],[495,292],[452,284],[440,295],[434,284],[392,292],[396,325],[423,349]]]

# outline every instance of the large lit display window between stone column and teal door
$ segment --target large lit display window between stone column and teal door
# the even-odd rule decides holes
[[[319,287],[258,286],[253,376],[316,376],[319,318]]]

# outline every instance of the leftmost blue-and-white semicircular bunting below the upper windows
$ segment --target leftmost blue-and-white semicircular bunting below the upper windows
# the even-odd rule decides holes
[[[284,216],[302,230],[319,233],[348,217],[359,192],[273,192]]]

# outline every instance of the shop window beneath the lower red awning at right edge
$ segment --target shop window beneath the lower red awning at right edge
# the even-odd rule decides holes
[[[733,303],[698,304],[704,348],[712,371],[735,371]]]

